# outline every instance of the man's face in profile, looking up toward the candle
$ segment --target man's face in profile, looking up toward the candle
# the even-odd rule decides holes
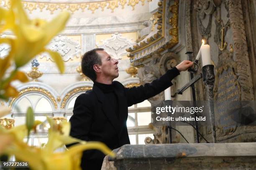
[[[111,77],[113,79],[117,78],[119,76],[118,73],[118,60],[110,57],[110,55],[105,51],[96,51],[101,58],[101,71],[102,76],[105,77]]]

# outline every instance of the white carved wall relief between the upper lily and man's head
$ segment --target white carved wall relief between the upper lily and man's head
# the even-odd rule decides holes
[[[48,45],[51,51],[57,51],[64,61],[73,60],[74,57],[79,57],[81,54],[80,44],[78,42],[72,41],[71,38],[67,36],[56,36]],[[46,53],[41,54],[40,58],[46,58],[46,60],[51,59]]]

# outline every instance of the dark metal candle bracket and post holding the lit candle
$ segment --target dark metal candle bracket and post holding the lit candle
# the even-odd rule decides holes
[[[187,52],[189,58],[192,58],[192,52]],[[197,65],[197,62],[194,62]],[[194,66],[195,68],[195,66]],[[192,68],[188,70],[189,72],[196,74],[197,68]],[[181,89],[177,90],[177,94],[182,94],[183,91],[185,91],[190,86],[193,86],[195,82],[203,78],[203,82],[205,84],[206,90],[207,90],[207,97],[208,97],[208,104],[209,104],[209,112],[210,112],[210,123],[211,123],[211,129],[212,129],[212,141],[213,143],[216,143],[216,131],[215,131],[215,114],[214,114],[214,95],[213,95],[213,86],[214,86],[214,66],[213,65],[205,65],[202,67],[202,72],[200,74],[197,74],[193,79],[191,79],[187,84],[185,84]]]

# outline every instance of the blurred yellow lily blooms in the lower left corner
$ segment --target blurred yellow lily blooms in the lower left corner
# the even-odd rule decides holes
[[[30,109],[28,109],[28,112],[31,112]],[[27,114],[26,125],[20,125],[10,130],[0,127],[0,137],[4,137],[3,142],[0,142],[0,149],[2,148],[3,154],[9,156],[15,155],[16,160],[29,162],[29,167],[32,170],[80,170],[82,152],[88,149],[98,149],[106,155],[115,156],[101,142],[85,142],[70,137],[69,122],[63,121],[60,124],[56,124],[49,117],[47,117],[50,124],[47,144],[42,148],[28,146],[23,142],[23,139],[27,137],[30,128],[35,131],[36,126],[41,124],[40,121],[34,121],[28,118],[31,115],[33,116],[33,114]],[[74,142],[79,143],[69,147],[69,150],[65,150],[64,152],[54,152],[56,148]]]

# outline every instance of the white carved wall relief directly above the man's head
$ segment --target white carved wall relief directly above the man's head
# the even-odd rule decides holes
[[[99,48],[104,48],[115,59],[121,59],[121,56],[128,54],[126,48],[133,46],[133,42],[122,37],[120,33],[112,34],[112,37],[107,40],[101,40],[102,45],[96,44]]]

